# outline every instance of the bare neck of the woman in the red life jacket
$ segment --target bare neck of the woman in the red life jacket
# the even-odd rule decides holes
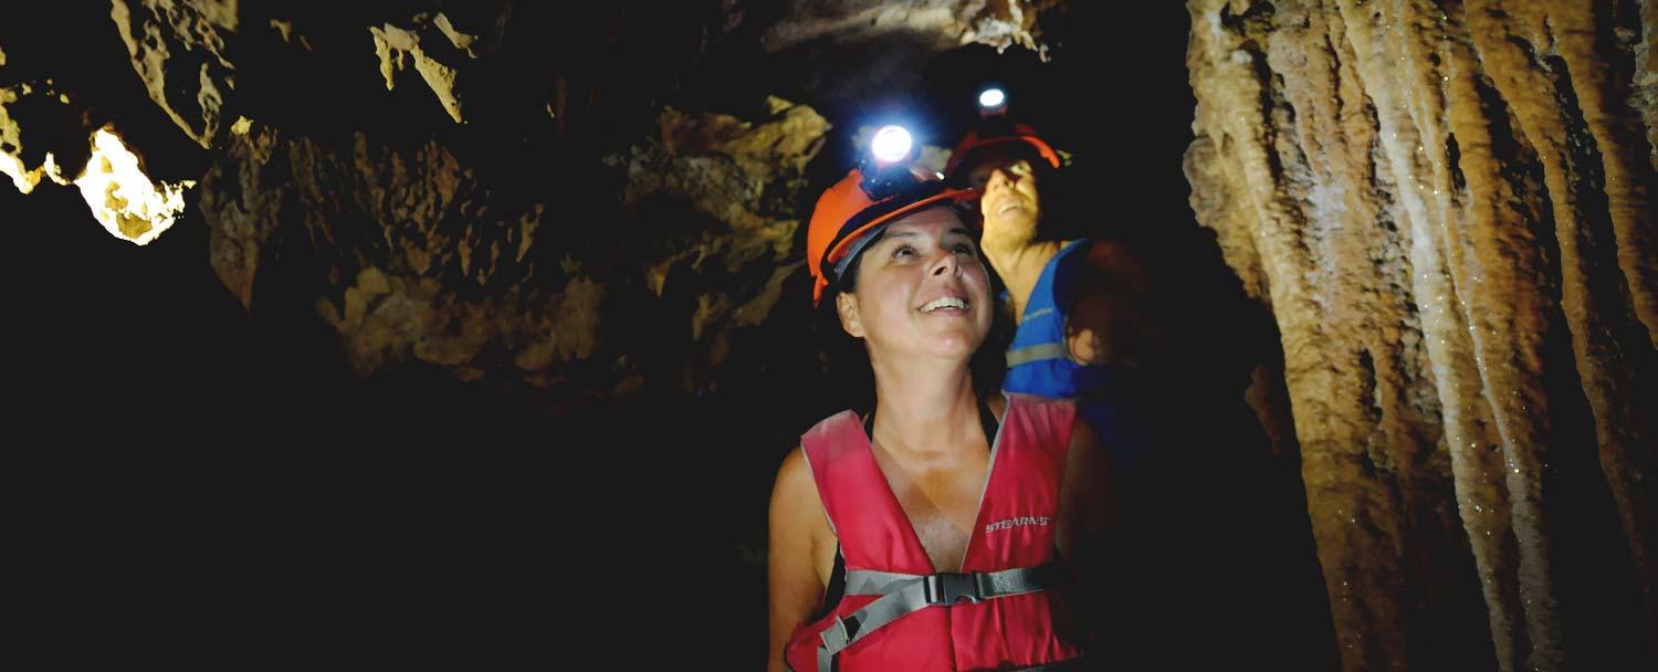
[[[967,362],[943,375],[937,368],[927,360],[875,367],[875,426],[870,438],[887,451],[938,455],[973,445],[970,441],[983,433]]]

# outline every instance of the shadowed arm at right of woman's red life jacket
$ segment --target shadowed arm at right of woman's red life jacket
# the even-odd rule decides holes
[[[1101,567],[1111,531],[1111,453],[1094,428],[1078,415],[1071,428],[1064,480],[1059,483],[1059,521],[1054,546],[1076,581],[1081,616],[1101,622]]]

